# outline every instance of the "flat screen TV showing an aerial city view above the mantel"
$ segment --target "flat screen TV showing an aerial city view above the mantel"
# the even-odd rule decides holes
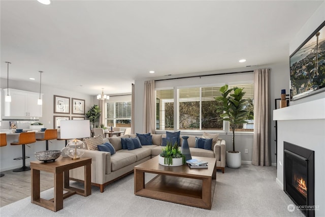
[[[290,55],[290,100],[325,90],[325,21]]]

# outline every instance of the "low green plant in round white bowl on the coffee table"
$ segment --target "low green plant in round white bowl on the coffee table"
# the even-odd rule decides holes
[[[181,166],[185,164],[186,157],[178,148],[177,142],[173,145],[170,141],[167,142],[163,151],[159,154],[159,164],[164,166]]]

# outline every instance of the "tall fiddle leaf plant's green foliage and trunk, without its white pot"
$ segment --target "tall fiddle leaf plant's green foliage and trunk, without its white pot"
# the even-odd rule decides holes
[[[235,151],[235,130],[236,126],[240,123],[247,123],[247,115],[249,111],[245,110],[247,100],[243,99],[245,92],[244,88],[234,87],[229,89],[228,85],[220,87],[220,97],[216,97],[215,100],[221,102],[222,105],[217,107],[217,111],[221,112],[220,117],[222,120],[229,121],[231,130],[233,131],[233,151]]]

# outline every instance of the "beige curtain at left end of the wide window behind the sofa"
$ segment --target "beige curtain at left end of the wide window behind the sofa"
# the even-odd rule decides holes
[[[154,80],[144,82],[143,133],[155,133]]]

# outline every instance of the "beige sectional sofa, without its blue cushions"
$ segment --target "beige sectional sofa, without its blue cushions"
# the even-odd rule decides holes
[[[166,135],[152,134],[152,145],[142,145],[142,148],[134,150],[122,149],[121,138],[134,137],[136,137],[136,135],[124,135],[121,137],[103,139],[104,142],[110,142],[114,146],[116,153],[112,155],[110,152],[106,151],[85,150],[83,157],[92,159],[91,184],[100,187],[101,192],[104,192],[104,187],[107,184],[132,173],[136,165],[158,156],[163,148],[163,146],[161,146],[162,138],[166,137]],[[225,141],[219,138],[215,144],[212,144],[212,150],[206,150],[195,148],[195,137],[196,136],[189,136],[187,139],[191,156],[216,158],[217,169],[221,169],[222,173],[224,173]],[[182,141],[183,139],[180,138],[180,144],[182,144]],[[83,168],[70,170],[70,179],[83,181]]]

